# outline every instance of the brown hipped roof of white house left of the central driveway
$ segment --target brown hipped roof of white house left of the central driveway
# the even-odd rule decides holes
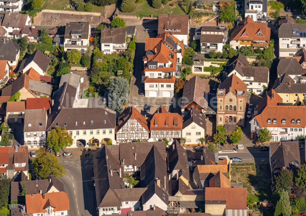
[[[102,28],[100,43],[125,43],[126,28]]]

